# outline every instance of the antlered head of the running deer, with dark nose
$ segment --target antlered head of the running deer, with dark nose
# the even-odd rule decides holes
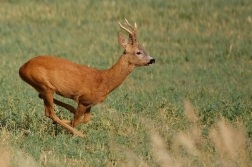
[[[137,41],[137,25],[135,23],[134,26],[130,25],[129,22],[125,19],[125,25],[129,26],[131,29],[128,30],[124,26],[122,26],[119,22],[119,25],[122,29],[129,33],[129,40],[127,40],[122,33],[118,33],[118,42],[123,47],[124,56],[127,56],[128,63],[134,66],[148,66],[150,64],[155,63],[155,59],[150,57],[141,47],[141,45]]]

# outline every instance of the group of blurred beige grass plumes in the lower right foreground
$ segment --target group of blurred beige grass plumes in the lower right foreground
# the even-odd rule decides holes
[[[185,101],[184,107],[189,126],[174,134],[171,150],[166,149],[157,133],[151,135],[152,153],[160,166],[250,166],[248,148],[251,143],[241,121],[232,125],[220,118],[209,134],[203,135],[203,127],[199,125],[193,106]]]

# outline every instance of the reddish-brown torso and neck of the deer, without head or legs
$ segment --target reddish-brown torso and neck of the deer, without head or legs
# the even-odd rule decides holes
[[[94,105],[103,102],[133,70],[122,70],[122,61],[111,69],[98,70],[55,56],[38,56],[20,68],[20,76],[38,92],[52,90],[78,103]]]

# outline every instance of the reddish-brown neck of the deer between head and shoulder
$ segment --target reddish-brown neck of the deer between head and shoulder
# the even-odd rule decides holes
[[[120,86],[134,67],[128,63],[127,56],[122,55],[114,66],[105,71],[108,91],[111,92]]]

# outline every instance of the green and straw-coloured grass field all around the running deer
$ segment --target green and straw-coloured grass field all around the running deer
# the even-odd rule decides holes
[[[0,6],[0,166],[252,164],[251,0],[1,0]],[[44,115],[18,69],[42,54],[110,68],[123,52],[117,22],[124,18],[137,22],[139,41],[156,64],[136,68],[78,126],[86,137],[72,136]]]

